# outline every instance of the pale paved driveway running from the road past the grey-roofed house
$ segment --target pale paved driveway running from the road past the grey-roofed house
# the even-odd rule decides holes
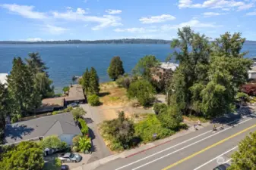
[[[90,107],[89,104],[81,104],[80,106],[87,112],[87,114],[84,116],[84,119],[86,119],[87,125],[90,128],[89,134],[90,138],[92,138],[93,144],[93,153],[88,160],[88,163],[96,161],[98,159],[103,159],[106,156],[110,156],[111,152],[106,147],[106,144],[100,135],[100,131],[98,131],[97,128],[97,123],[100,122],[100,120],[97,119],[97,110],[93,107]]]

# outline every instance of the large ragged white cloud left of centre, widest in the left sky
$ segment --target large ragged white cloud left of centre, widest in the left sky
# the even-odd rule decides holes
[[[52,14],[56,19],[98,23],[99,25],[94,26],[92,28],[93,30],[99,30],[109,26],[122,26],[122,23],[120,23],[122,20],[121,17],[112,15],[103,15],[103,17],[85,15],[81,8],[77,8],[77,11],[68,10],[64,13],[53,12]]]

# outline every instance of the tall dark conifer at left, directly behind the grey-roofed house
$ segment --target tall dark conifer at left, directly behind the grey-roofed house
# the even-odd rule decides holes
[[[21,60],[21,57],[14,58],[11,74],[8,75],[8,93],[11,99],[11,113],[21,114],[33,112],[40,107],[40,93],[35,88],[33,74]]]

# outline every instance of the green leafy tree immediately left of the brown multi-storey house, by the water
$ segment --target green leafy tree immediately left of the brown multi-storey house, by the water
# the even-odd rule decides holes
[[[143,76],[148,81],[151,81],[151,70],[160,64],[160,61],[153,55],[146,55],[142,57],[132,70],[135,75]]]

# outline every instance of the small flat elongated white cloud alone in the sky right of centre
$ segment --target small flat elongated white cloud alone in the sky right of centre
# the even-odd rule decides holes
[[[159,16],[152,17],[141,17],[141,23],[163,23],[168,20],[175,20],[176,18],[169,14],[162,14]]]

